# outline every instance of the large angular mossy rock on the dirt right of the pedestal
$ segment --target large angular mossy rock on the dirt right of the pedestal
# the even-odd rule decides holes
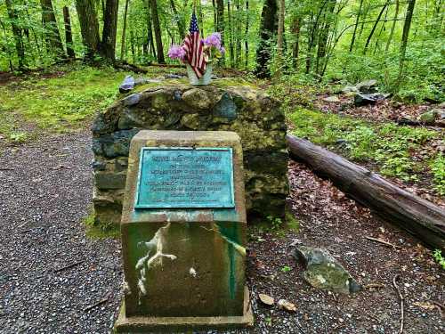
[[[300,246],[295,248],[295,257],[303,262],[306,270],[303,277],[312,287],[349,294],[361,289],[343,265],[332,257],[328,250]]]

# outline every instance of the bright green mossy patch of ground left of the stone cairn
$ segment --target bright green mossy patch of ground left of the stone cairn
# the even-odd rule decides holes
[[[21,142],[42,132],[85,127],[85,120],[117,96],[125,73],[72,65],[0,86],[0,134]]]

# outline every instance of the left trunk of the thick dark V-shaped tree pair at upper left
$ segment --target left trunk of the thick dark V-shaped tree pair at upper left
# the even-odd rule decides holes
[[[80,22],[82,40],[86,47],[86,58],[92,59],[98,52],[101,38],[99,37],[99,21],[94,9],[93,0],[76,0],[77,15]]]

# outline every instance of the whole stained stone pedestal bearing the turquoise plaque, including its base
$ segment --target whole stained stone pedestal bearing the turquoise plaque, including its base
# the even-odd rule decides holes
[[[131,142],[117,332],[253,323],[245,286],[243,151],[233,132],[147,131]]]

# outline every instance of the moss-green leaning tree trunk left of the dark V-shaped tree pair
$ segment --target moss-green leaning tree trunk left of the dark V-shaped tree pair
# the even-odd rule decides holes
[[[61,34],[55,20],[53,3],[51,0],[40,0],[42,6],[42,21],[44,23],[44,37],[46,45],[58,56],[64,57],[65,51],[61,44]]]

